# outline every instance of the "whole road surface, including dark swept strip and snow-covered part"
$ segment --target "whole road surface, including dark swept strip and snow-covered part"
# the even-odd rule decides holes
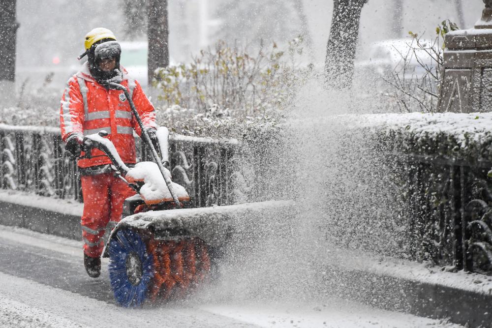
[[[461,327],[332,299],[323,303],[195,301],[115,305],[107,261],[91,279],[81,243],[0,226],[0,327]]]

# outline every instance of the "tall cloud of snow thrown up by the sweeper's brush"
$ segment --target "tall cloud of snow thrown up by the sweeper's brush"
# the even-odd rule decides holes
[[[347,286],[335,273],[343,256],[334,252],[399,249],[392,217],[398,203],[385,167],[391,162],[373,147],[370,129],[358,128],[361,116],[339,115],[364,107],[315,85],[307,85],[281,126],[249,134],[238,156],[247,186],[237,190],[241,202],[291,199],[295,208],[257,217],[250,231],[234,236],[220,254],[215,287],[202,298],[323,299],[342,293],[324,286]]]

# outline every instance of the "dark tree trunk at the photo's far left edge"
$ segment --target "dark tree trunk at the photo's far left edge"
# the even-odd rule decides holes
[[[0,80],[15,81],[16,0],[0,1]]]

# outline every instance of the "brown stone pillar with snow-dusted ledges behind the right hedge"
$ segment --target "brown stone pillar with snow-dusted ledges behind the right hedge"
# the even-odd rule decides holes
[[[446,34],[439,112],[492,112],[492,0],[474,29]]]

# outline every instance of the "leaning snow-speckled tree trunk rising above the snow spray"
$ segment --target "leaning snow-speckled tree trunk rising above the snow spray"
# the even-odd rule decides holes
[[[328,88],[349,89],[354,72],[362,7],[368,0],[334,0],[332,26],[326,47]]]

